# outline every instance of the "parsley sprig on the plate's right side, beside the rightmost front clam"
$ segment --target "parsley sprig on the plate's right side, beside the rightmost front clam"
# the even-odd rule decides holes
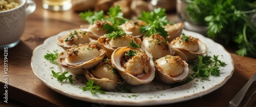
[[[226,66],[225,62],[218,59],[218,55],[214,55],[214,58],[211,56],[205,56],[203,58],[199,55],[198,58],[199,62],[193,68],[193,71],[196,72],[192,74],[193,77],[209,78],[210,75],[220,76],[219,66]]]

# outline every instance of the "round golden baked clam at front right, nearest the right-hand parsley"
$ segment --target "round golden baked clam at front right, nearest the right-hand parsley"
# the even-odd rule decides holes
[[[166,55],[155,60],[156,75],[165,83],[175,83],[186,79],[188,64],[180,56]]]

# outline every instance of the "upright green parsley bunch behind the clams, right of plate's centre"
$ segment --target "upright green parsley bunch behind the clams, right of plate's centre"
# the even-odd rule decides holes
[[[151,12],[142,11],[141,16],[138,19],[143,20],[148,25],[140,28],[141,33],[145,33],[146,36],[158,33],[163,37],[167,37],[168,34],[164,30],[163,26],[167,24],[173,24],[166,19],[167,15],[165,9],[156,8]]]

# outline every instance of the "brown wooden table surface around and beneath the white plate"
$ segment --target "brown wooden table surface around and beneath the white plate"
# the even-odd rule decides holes
[[[78,16],[78,12],[72,10],[65,12],[53,12],[42,9],[41,1],[36,2],[36,10],[26,20],[25,32],[20,38],[19,44],[8,49],[8,103],[4,102],[4,51],[0,56],[1,66],[1,103],[0,106],[113,106],[102,103],[90,103],[75,100],[48,88],[40,82],[31,69],[31,57],[33,50],[41,45],[44,40],[61,31],[76,29],[86,24]],[[168,19],[177,22],[176,13],[170,13]],[[3,39],[3,38],[2,38]],[[200,98],[184,102],[166,104],[161,106],[228,106],[229,101],[240,91],[243,85],[256,72],[256,59],[241,57],[233,54],[232,47],[225,47],[230,52],[234,62],[232,77],[219,89]],[[256,90],[256,83],[253,82],[241,105],[245,105],[250,95]],[[252,98],[249,106],[256,106],[256,98]]]

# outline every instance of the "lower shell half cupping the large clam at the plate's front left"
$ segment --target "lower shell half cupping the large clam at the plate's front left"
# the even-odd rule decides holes
[[[68,56],[68,53],[67,51],[63,51],[58,55],[57,62],[59,63],[60,66],[62,66],[65,70],[67,70],[72,74],[83,74],[82,70],[88,70],[88,69],[94,68],[104,58],[105,51],[100,49],[99,52],[100,52],[99,56],[91,60],[88,60],[82,63],[77,63],[75,65],[70,65],[65,60],[66,57]]]

